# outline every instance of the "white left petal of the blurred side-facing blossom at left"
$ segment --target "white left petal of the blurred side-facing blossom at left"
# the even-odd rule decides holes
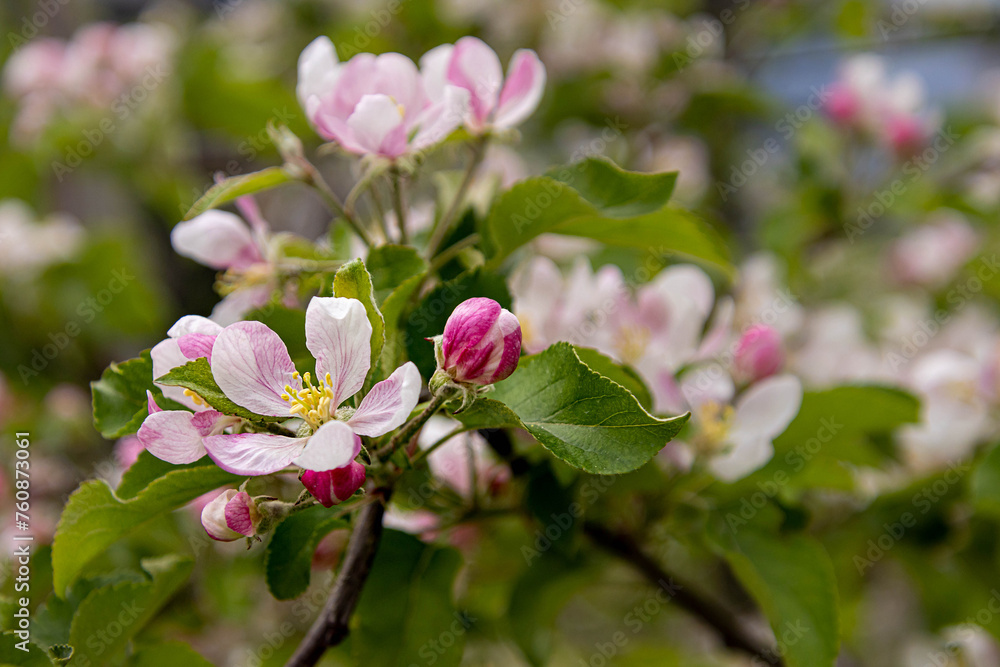
[[[170,232],[174,250],[213,269],[243,269],[264,258],[243,219],[227,211],[206,211]]]

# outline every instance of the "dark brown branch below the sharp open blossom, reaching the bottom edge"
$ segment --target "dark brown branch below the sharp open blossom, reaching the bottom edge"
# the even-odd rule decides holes
[[[382,537],[384,514],[384,501],[365,505],[358,513],[358,520],[347,545],[344,565],[340,568],[330,597],[285,667],[312,667],[328,648],[336,646],[347,637],[350,631],[348,622],[375,561],[375,552]]]

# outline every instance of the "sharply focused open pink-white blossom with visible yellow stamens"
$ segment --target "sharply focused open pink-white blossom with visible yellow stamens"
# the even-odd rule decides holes
[[[359,436],[376,437],[400,426],[420,395],[420,373],[407,362],[372,387],[356,410],[341,407],[364,385],[371,334],[360,301],[314,297],[306,309],[314,384],[308,373],[299,375],[284,342],[266,325],[226,327],[212,348],[212,373],[226,396],[257,414],[301,419],[312,433],[211,435],[204,438],[209,456],[238,475],[267,475],[292,463],[318,472],[348,466],[361,451]]]

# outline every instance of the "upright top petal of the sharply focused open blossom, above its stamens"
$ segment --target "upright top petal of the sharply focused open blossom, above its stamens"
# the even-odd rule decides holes
[[[358,393],[365,383],[371,366],[371,337],[368,314],[357,299],[313,297],[309,301],[306,347],[316,357],[319,378],[329,373],[333,380],[333,407]]]

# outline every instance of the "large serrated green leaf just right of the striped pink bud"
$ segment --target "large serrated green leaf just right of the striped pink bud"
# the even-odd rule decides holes
[[[689,415],[657,419],[621,385],[556,343],[500,382],[493,394],[552,454],[590,473],[635,470],[677,435]]]

